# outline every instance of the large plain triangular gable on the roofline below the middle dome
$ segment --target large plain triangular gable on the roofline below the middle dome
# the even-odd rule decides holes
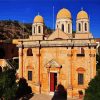
[[[47,40],[55,40],[55,39],[69,39],[70,37],[68,34],[64,33],[63,31],[57,29],[55,30]]]

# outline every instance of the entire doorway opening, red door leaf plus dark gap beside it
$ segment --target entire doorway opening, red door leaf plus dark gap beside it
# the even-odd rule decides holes
[[[50,92],[54,92],[57,86],[57,73],[50,73]]]

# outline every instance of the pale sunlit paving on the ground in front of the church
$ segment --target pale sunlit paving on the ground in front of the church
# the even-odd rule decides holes
[[[34,96],[30,99],[30,100],[51,100],[52,99],[52,96],[50,95],[45,95],[45,94],[34,94]],[[67,100],[82,100],[82,99],[78,99],[77,97],[71,99],[71,98],[68,98]]]

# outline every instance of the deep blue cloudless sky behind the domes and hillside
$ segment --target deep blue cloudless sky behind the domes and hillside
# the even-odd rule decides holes
[[[73,19],[73,30],[76,26],[77,13],[83,8],[90,16],[90,31],[94,37],[100,37],[100,0],[0,0],[0,20],[19,20],[32,23],[34,17],[42,15],[45,24],[53,27],[54,20],[61,8],[70,10]]]

